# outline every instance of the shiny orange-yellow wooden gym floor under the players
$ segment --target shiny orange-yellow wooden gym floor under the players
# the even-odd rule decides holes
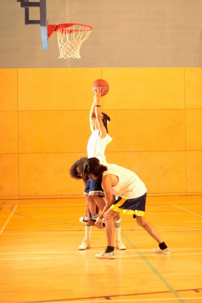
[[[81,199],[0,200],[0,302],[202,302],[202,196],[148,197],[146,219],[171,249],[122,215],[125,251],[99,260],[105,230],[80,251]]]

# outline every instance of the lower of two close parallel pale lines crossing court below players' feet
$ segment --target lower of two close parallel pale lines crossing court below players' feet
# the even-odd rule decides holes
[[[100,251],[100,250],[99,250]],[[95,251],[94,251],[95,252]],[[82,252],[81,252],[82,254]],[[198,256],[198,255],[202,255],[202,252],[194,252],[193,254],[171,254],[171,255],[163,255],[163,256],[167,256],[167,257],[170,257],[170,256]],[[118,256],[118,255],[115,255],[116,258],[115,259],[121,259],[121,258],[142,258],[142,256],[140,255],[126,255],[126,256]],[[143,255],[143,257],[155,257],[155,258],[158,258],[158,256],[162,256],[162,255],[157,255],[157,254],[150,254],[150,255]],[[165,257],[165,258],[167,258]],[[47,259],[84,259],[86,258],[86,256],[57,256],[57,257],[32,257],[32,258],[0,258],[0,260],[47,260]],[[88,258],[95,258],[94,256],[91,256]],[[101,260],[101,259],[100,259]]]

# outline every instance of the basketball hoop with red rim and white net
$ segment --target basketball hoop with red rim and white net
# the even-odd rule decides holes
[[[80,47],[89,37],[92,26],[80,23],[47,25],[48,38],[57,31],[59,58],[80,59]]]

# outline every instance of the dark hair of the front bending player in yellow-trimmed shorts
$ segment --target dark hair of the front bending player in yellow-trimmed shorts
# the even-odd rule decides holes
[[[85,176],[89,176],[90,174],[93,174],[94,176],[101,179],[105,171],[107,171],[107,167],[100,164],[100,161],[97,158],[89,158],[84,164]]]

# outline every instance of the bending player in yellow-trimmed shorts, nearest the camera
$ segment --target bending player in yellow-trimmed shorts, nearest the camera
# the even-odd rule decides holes
[[[114,220],[117,214],[132,215],[159,244],[154,248],[156,254],[169,255],[170,249],[162,240],[157,230],[148,223],[145,216],[147,188],[144,182],[132,171],[115,164],[102,165],[97,158],[90,158],[84,164],[84,174],[97,180],[102,177],[102,188],[105,193],[106,206],[97,218],[96,226],[102,229],[102,219],[105,219],[107,249],[96,255],[99,259],[114,259]],[[117,200],[113,201],[113,195]]]

